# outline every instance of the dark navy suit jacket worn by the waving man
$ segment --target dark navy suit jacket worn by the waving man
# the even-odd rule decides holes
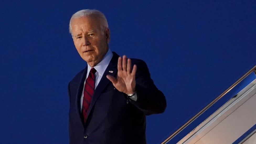
[[[154,85],[147,65],[142,60],[131,59],[132,66],[137,65],[137,101],[115,89],[106,75],[117,76],[118,57],[113,52],[113,57],[94,91],[85,124],[80,112],[80,99],[87,67],[68,84],[70,143],[146,143],[146,115],[164,112],[165,96]]]

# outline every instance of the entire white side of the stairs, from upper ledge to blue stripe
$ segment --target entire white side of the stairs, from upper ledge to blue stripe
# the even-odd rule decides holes
[[[234,142],[256,123],[255,104],[256,79],[178,143]]]

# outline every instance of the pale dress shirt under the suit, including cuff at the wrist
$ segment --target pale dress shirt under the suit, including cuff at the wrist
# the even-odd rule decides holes
[[[96,66],[94,66],[95,70],[97,72],[95,72],[95,88],[98,86],[100,79],[103,76],[103,73],[105,72],[106,68],[109,65],[109,62],[111,60],[111,58],[113,57],[113,53],[110,51],[110,49],[108,49],[108,52],[106,53],[106,55],[103,57],[102,61],[100,61]],[[91,70],[91,66],[87,63],[87,74],[86,74],[86,78],[84,80],[84,85],[86,82],[86,79],[89,75],[89,72]],[[80,110],[82,111],[82,105],[83,105],[83,97],[84,97],[84,87],[83,87],[83,92],[82,92],[82,96],[81,96],[81,100],[80,100]],[[137,101],[137,94],[135,93],[134,96],[130,97],[130,99]]]

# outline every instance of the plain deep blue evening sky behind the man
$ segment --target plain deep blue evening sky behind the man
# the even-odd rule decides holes
[[[167,99],[147,116],[160,143],[256,65],[255,1],[1,1],[1,143],[68,143],[68,82],[86,62],[68,33],[102,11],[110,49],[144,60]]]

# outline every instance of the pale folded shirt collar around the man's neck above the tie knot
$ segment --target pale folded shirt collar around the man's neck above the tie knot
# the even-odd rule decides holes
[[[103,59],[96,66],[94,66],[95,70],[101,76],[103,76],[103,73],[105,72],[106,68],[108,67],[108,64],[109,64],[112,57],[113,57],[113,53],[111,52],[110,49],[108,49],[108,52],[103,57]],[[88,66],[88,68],[87,68],[87,74],[88,74],[92,67],[88,63],[87,63],[87,66]]]

